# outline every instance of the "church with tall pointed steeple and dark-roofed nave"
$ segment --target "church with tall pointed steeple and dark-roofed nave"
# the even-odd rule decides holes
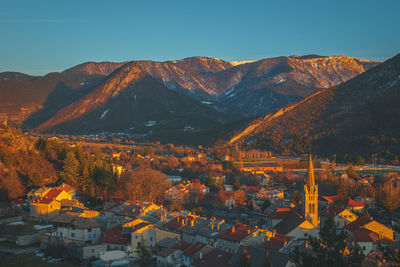
[[[318,237],[320,218],[318,216],[318,185],[315,184],[314,166],[310,155],[309,167],[304,185],[301,209],[285,209],[285,214],[279,214],[277,209],[272,216],[276,223],[276,232],[295,239]],[[278,218],[278,220],[276,220]]]

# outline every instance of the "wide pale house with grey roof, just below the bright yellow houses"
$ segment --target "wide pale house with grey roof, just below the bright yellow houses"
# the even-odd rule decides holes
[[[61,214],[52,220],[53,236],[98,244],[101,237],[100,225],[93,219]]]

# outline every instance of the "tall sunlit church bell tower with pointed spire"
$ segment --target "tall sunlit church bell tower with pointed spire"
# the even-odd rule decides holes
[[[318,185],[315,184],[314,166],[310,154],[306,184],[304,185],[303,195],[304,217],[315,227],[319,225],[318,217]]]

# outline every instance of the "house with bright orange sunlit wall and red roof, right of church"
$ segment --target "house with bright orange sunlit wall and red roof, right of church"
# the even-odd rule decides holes
[[[367,217],[360,217],[357,220],[347,224],[344,229],[348,233],[353,233],[359,228],[365,228],[368,229],[374,233],[377,233],[379,236],[384,236],[388,239],[393,240],[394,238],[394,231],[393,229]]]

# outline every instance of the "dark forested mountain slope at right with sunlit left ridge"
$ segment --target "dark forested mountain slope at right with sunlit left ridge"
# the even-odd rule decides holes
[[[262,116],[228,144],[286,154],[400,154],[400,54],[337,86]]]

